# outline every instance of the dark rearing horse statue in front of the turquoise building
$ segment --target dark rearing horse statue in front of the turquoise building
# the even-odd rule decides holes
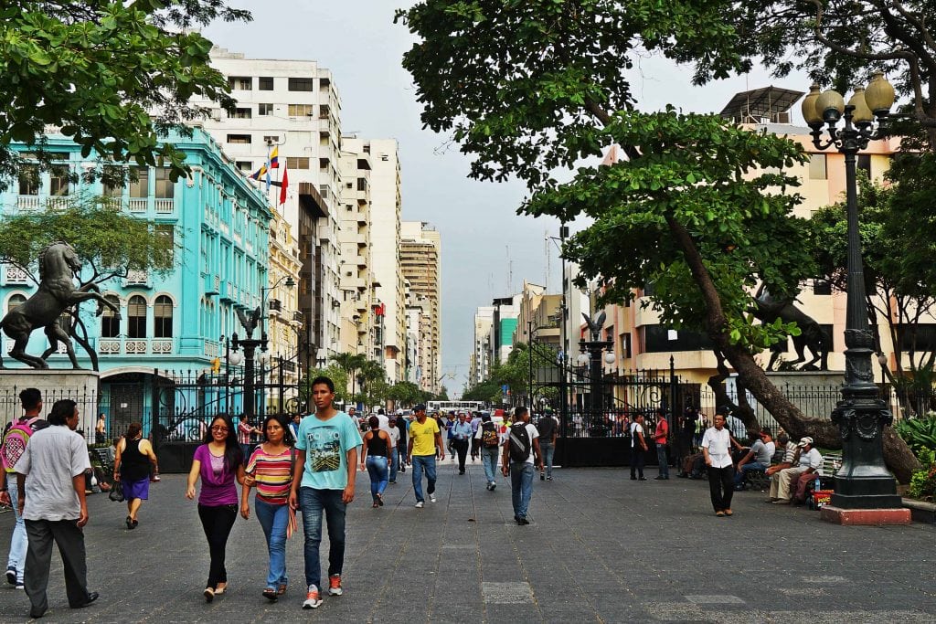
[[[82,301],[95,299],[98,316],[104,312],[104,306],[107,306],[120,317],[120,309],[101,296],[96,284],[86,283],[80,288],[75,287],[75,276],[80,270],[81,261],[78,254],[66,242],[53,242],[39,253],[39,289],[21,305],[7,312],[0,321],[0,328],[13,341],[10,356],[34,369],[48,369],[46,358],[58,349],[58,343],[61,341],[66,345],[72,367],[80,368],[68,331],[58,323],[62,313],[76,307],[73,313],[77,314],[77,306]],[[37,327],[45,327],[46,337],[49,339],[49,349],[41,357],[26,353],[29,335]],[[0,357],[0,369],[2,368],[3,358]]]

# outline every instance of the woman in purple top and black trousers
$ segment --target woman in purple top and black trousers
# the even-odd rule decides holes
[[[225,570],[225,546],[227,536],[237,519],[238,502],[235,479],[243,485],[243,455],[237,441],[237,431],[226,414],[214,416],[212,427],[205,435],[203,444],[195,451],[192,470],[188,473],[185,498],[195,499],[195,484],[201,477],[201,492],[198,494],[198,517],[208,538],[208,549],[212,565],[208,572],[205,601],[212,602],[227,589]]]

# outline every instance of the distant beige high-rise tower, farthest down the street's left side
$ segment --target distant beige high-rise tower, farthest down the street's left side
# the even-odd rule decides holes
[[[423,313],[419,321],[417,362],[420,386],[438,392],[442,377],[442,237],[431,225],[404,221],[401,226],[400,268],[412,298]],[[410,363],[411,366],[413,363]]]

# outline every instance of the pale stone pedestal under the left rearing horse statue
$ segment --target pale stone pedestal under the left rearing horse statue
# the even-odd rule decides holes
[[[78,428],[88,443],[95,441],[95,422],[101,373],[96,370],[66,369],[3,369],[0,370],[0,421],[7,422],[22,415],[20,393],[25,388],[37,388],[42,393],[42,416],[59,399],[78,403]]]

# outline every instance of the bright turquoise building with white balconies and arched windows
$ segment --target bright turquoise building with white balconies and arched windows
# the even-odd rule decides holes
[[[172,182],[168,168],[137,167],[139,179],[123,189],[69,181],[66,169],[80,173],[92,162],[82,158],[80,147],[67,138],[50,135],[48,140],[47,149],[54,152],[61,167],[41,174],[38,184],[25,178],[13,181],[0,194],[2,214],[45,210],[79,193],[110,195],[119,197],[128,213],[154,222],[157,231],[176,245],[172,270],[135,271],[126,279],[102,284],[102,294],[120,308],[119,318],[109,311],[95,317],[93,302],[81,307],[99,357],[100,410],[108,415],[109,434],[123,432],[135,420],[148,433],[157,411],[183,414],[196,404],[204,408],[203,413],[237,411],[221,388],[201,387],[193,392],[171,388],[204,380],[212,375],[212,367],[217,371],[219,362],[225,361],[224,338],[235,332],[243,337],[236,310],[260,305],[261,288],[267,285],[272,218],[267,197],[199,127],[193,128],[190,138],[168,138],[192,167],[189,178]],[[22,270],[2,267],[2,313],[35,291]],[[6,336],[2,340],[7,354],[12,341]],[[37,329],[28,353],[38,355],[47,347],[43,332]],[[75,350],[80,365],[91,368],[77,343]],[[52,369],[70,368],[64,348],[48,362]],[[25,368],[8,356],[4,363],[7,368]]]

